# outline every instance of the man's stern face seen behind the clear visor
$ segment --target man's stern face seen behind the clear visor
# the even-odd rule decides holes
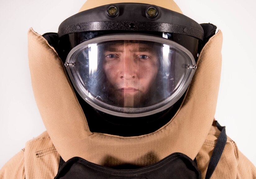
[[[152,44],[116,43],[104,52],[103,70],[114,103],[139,107],[155,82],[159,59]]]

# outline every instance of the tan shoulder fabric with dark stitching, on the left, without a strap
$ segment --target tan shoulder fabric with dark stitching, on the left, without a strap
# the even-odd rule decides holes
[[[53,179],[59,167],[60,154],[47,132],[25,145],[0,171],[1,179]]]

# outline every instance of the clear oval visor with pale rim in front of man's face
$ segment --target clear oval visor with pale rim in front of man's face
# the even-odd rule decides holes
[[[65,66],[92,107],[115,116],[142,117],[169,108],[184,94],[195,59],[174,41],[122,34],[77,45]]]

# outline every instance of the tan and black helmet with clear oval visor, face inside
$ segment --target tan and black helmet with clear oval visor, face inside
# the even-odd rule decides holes
[[[58,53],[86,114],[163,116],[186,92],[203,36],[173,1],[88,0],[59,26]]]

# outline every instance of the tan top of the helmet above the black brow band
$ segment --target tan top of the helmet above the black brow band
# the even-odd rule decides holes
[[[98,6],[103,6],[107,4],[114,4],[114,3],[122,3],[122,2],[134,2],[134,3],[144,3],[144,4],[152,4],[160,7],[164,7],[166,9],[170,9],[172,11],[178,12],[182,14],[181,9],[173,0],[161,0],[161,1],[156,1],[156,0],[97,0],[97,3],[95,3],[95,0],[87,0],[79,12],[85,11],[88,9],[92,9],[94,7]]]

